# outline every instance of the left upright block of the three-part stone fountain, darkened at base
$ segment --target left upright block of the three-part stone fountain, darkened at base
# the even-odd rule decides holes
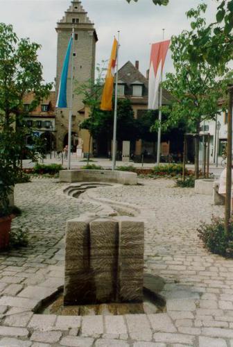
[[[67,221],[64,305],[85,305],[95,301],[94,282],[89,269],[89,221],[85,216]]]

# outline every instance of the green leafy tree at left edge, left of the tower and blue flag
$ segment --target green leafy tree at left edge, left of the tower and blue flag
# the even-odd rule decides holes
[[[40,44],[30,42],[28,38],[19,39],[11,25],[0,23],[0,153],[6,167],[10,163],[16,174],[21,168],[28,133],[23,125],[26,114],[24,96],[28,92],[34,94],[30,111],[49,94],[52,87],[52,83],[46,84],[42,78],[42,65],[37,60],[38,49]]]

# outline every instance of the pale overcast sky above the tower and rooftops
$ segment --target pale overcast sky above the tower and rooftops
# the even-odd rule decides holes
[[[119,65],[139,60],[139,69],[146,74],[150,57],[150,43],[177,35],[189,28],[185,12],[196,7],[198,0],[170,0],[169,6],[155,6],[152,0],[83,0],[83,7],[94,22],[98,35],[96,62],[108,60],[113,36],[121,31]],[[207,19],[214,21],[216,0],[205,0]],[[42,45],[39,59],[44,66],[44,79],[53,81],[56,65],[56,22],[69,8],[70,0],[0,0],[0,22],[12,24],[19,37],[30,37]],[[172,70],[170,55],[166,71]]]

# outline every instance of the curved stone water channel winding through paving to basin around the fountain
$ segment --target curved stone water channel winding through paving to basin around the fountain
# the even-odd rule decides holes
[[[87,190],[98,187],[118,186],[108,183],[73,183],[64,189],[64,194],[74,198],[92,200]],[[135,217],[139,210],[126,204],[114,203],[114,201],[103,201],[96,198],[96,201],[109,207],[107,217],[130,216]],[[93,201],[92,201],[93,203]],[[110,207],[111,206],[111,207]],[[159,276],[144,274],[144,299],[142,303],[98,303],[96,305],[64,305],[63,289],[59,294],[47,301],[46,305],[40,309],[41,314],[61,314],[61,315],[121,315],[121,314],[155,314],[166,312],[166,301],[159,292],[164,288],[164,280]]]

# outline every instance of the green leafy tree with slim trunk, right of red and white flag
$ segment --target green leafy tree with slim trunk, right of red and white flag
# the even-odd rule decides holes
[[[198,178],[198,153],[200,122],[214,119],[219,112],[218,101],[223,98],[227,84],[232,78],[227,67],[218,69],[207,60],[195,59],[193,42],[202,40],[212,42],[212,28],[206,26],[205,11],[207,6],[200,4],[197,9],[187,12],[191,19],[191,30],[182,31],[171,40],[171,52],[175,72],[166,74],[164,87],[173,96],[171,107],[164,108],[168,118],[163,124],[166,129],[171,125],[186,120],[187,125],[196,129],[195,174]]]

